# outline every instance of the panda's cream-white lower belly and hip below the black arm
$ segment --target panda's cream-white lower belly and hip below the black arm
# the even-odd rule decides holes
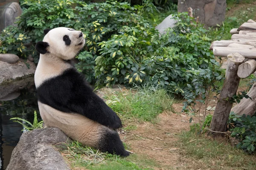
[[[57,127],[73,140],[97,147],[105,126],[75,113],[64,113],[38,101],[40,115],[47,127]]]

